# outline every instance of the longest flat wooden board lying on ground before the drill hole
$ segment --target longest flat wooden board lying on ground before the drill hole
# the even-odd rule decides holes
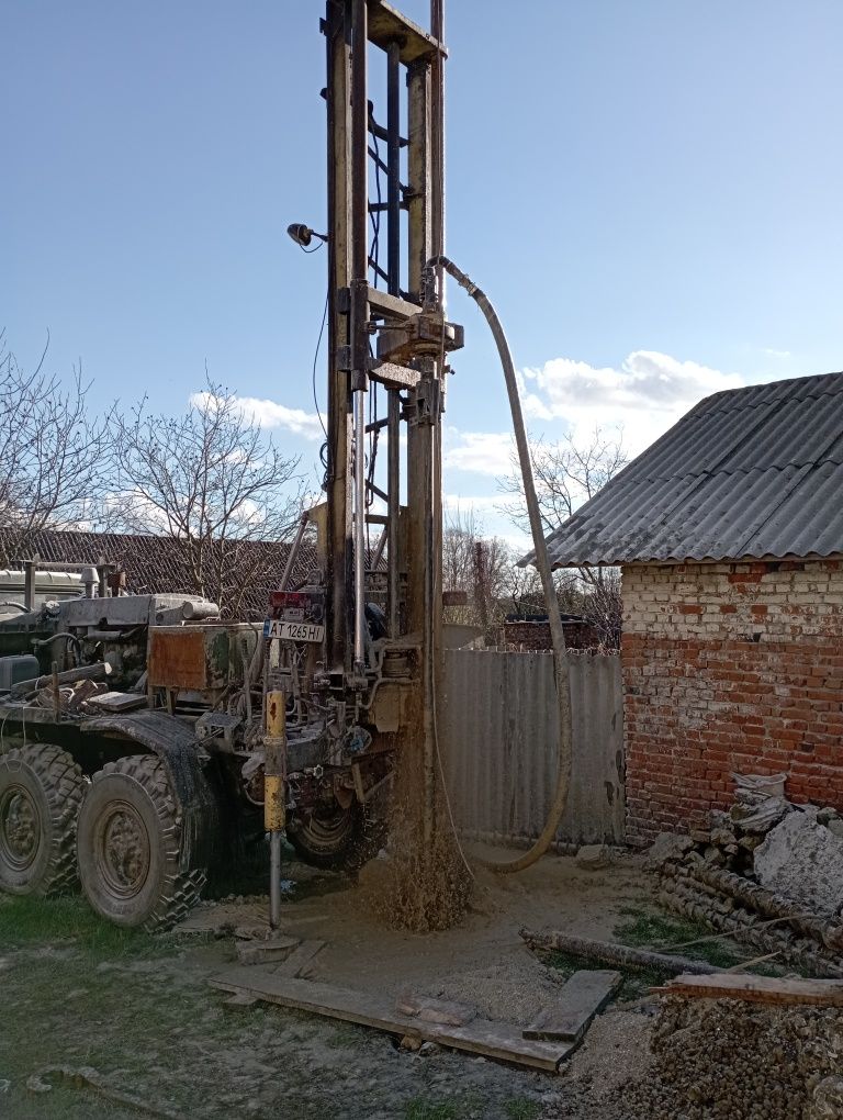
[[[514,1062],[534,1070],[555,1073],[560,1062],[573,1049],[566,1043],[543,1043],[522,1037],[521,1027],[508,1023],[474,1019],[461,1027],[424,1023],[399,1015],[385,996],[350,991],[312,980],[280,977],[259,968],[238,968],[209,981],[223,991],[255,996],[281,1007],[293,1007],[330,1019],[358,1023],[392,1035],[414,1035],[453,1049],[469,1051],[502,1062]]]

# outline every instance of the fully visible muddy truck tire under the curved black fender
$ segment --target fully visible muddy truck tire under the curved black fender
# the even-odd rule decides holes
[[[181,813],[154,755],[132,755],[94,774],[79,812],[79,880],[115,925],[168,930],[199,900],[204,868],[181,867]]]

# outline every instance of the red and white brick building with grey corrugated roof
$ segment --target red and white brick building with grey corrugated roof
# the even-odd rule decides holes
[[[621,566],[630,839],[732,772],[843,809],[843,374],[702,401],[549,545]]]

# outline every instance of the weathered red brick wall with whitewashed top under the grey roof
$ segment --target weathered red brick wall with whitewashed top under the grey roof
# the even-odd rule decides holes
[[[843,562],[630,564],[622,598],[630,837],[703,823],[732,771],[843,810]]]

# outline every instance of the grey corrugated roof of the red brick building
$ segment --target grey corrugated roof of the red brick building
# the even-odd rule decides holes
[[[560,567],[843,552],[843,373],[706,398],[547,547]]]

